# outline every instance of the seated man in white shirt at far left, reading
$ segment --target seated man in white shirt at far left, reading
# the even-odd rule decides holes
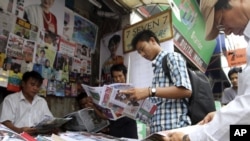
[[[21,91],[5,97],[0,122],[17,133],[36,134],[36,124],[44,118],[52,118],[47,102],[37,95],[43,78],[36,72],[25,72]]]

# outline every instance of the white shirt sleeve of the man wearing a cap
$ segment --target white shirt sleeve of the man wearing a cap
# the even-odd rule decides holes
[[[189,134],[191,141],[229,140],[230,125],[250,123],[250,93],[236,97],[216,112],[213,120]]]

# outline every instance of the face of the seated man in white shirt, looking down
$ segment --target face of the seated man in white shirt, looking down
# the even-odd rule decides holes
[[[28,79],[27,82],[22,82],[23,94],[28,97],[34,97],[39,92],[40,87],[41,84],[33,78]]]

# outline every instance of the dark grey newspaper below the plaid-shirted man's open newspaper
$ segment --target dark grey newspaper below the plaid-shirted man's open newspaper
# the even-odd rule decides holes
[[[64,126],[67,130],[98,132],[109,125],[108,120],[100,118],[91,108],[81,109],[65,117],[72,118]]]

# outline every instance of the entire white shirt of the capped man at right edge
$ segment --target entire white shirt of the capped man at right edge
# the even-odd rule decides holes
[[[250,39],[250,21],[244,30]],[[238,95],[215,113],[211,122],[189,133],[191,141],[229,141],[230,125],[250,124],[250,42],[247,46],[247,65],[238,74]]]

